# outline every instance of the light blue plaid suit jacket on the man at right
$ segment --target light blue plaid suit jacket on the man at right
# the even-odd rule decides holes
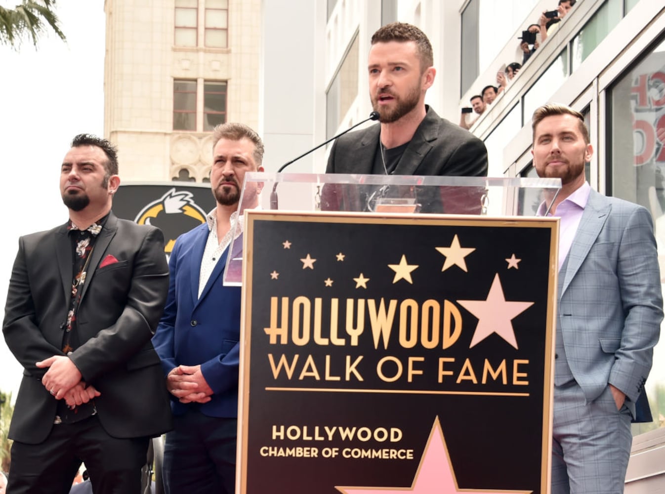
[[[592,190],[568,255],[557,316],[571,372],[587,403],[609,383],[626,394],[635,417],[662,305],[651,215]]]

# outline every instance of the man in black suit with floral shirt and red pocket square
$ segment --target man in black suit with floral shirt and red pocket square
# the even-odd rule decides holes
[[[68,221],[21,237],[3,334],[23,365],[7,490],[140,492],[148,441],[171,428],[150,338],[168,291],[164,237],[111,212],[116,149],[80,134],[61,167]]]

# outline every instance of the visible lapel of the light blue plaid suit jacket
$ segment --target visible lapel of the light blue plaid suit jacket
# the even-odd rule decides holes
[[[591,246],[598,238],[600,230],[602,230],[610,213],[610,209],[611,206],[608,202],[604,201],[604,197],[592,189],[589,193],[587,207],[585,207],[582,213],[579,227],[577,227],[577,232],[575,232],[571,250],[568,253],[568,266],[561,295],[565,293],[582,263],[587,259],[589,250],[591,250]]]

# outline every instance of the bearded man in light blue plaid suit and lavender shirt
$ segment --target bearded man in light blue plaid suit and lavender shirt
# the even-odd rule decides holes
[[[663,318],[652,219],[586,182],[579,112],[538,108],[531,152],[539,176],[562,182],[550,208],[561,217],[552,494],[622,493],[630,422],[651,420],[644,382]]]

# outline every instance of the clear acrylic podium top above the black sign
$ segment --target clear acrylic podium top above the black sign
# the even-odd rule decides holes
[[[551,203],[559,189],[561,180],[547,178],[248,173],[223,283],[242,284],[245,209],[535,216],[539,205]]]

